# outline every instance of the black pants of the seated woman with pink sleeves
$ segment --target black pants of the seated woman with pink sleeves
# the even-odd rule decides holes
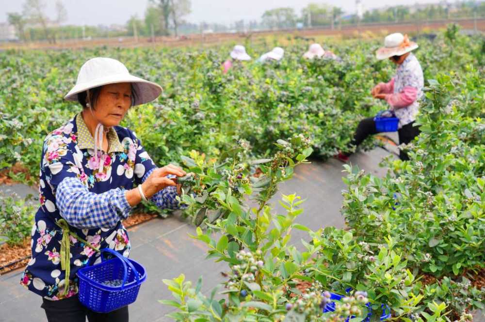
[[[415,127],[413,125],[414,122],[411,122],[404,125],[397,131],[399,135],[399,144],[407,144],[420,134],[419,127]],[[356,134],[354,135],[354,139],[351,141],[351,144],[358,146],[367,137],[377,133],[379,132],[375,130],[374,118],[369,117],[367,119],[363,119],[357,126]],[[409,156],[407,155],[407,153],[402,150],[399,152],[399,158],[403,161],[409,160]]]

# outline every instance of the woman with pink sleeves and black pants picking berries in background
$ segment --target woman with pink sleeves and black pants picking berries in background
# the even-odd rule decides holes
[[[378,60],[388,58],[397,65],[396,75],[387,83],[379,83],[372,89],[374,98],[386,100],[389,109],[399,119],[399,144],[407,144],[420,134],[414,126],[416,114],[419,111],[418,100],[423,95],[424,77],[419,61],[411,51],[418,48],[418,44],[410,42],[407,35],[393,33],[384,40],[384,47],[376,51]],[[364,139],[376,134],[373,118],[360,121],[351,144],[358,146]],[[407,153],[400,151],[401,160],[408,160]],[[348,155],[339,153],[337,158],[347,162]]]

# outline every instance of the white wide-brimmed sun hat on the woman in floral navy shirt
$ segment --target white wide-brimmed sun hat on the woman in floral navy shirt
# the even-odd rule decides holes
[[[76,85],[64,98],[68,101],[77,101],[81,92],[115,83],[131,83],[135,92],[133,106],[151,102],[162,92],[160,85],[129,74],[122,62],[112,58],[96,57],[81,66]]]

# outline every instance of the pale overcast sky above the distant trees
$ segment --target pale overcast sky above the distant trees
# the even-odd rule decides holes
[[[44,0],[46,13],[55,17],[55,0]],[[0,22],[7,20],[7,13],[21,12],[24,0],[0,0]],[[186,20],[199,23],[229,24],[236,20],[258,20],[265,10],[276,7],[293,7],[298,14],[310,2],[327,3],[341,7],[346,13],[355,13],[355,0],[192,0],[192,13]],[[438,0],[393,0],[387,4],[431,3]],[[63,0],[67,9],[65,24],[111,25],[125,24],[131,15],[143,17],[148,0]],[[362,0],[364,9],[383,5],[382,0]],[[386,3],[386,2],[384,2]]]

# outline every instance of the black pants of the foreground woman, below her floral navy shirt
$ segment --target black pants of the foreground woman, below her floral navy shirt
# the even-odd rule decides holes
[[[128,306],[110,313],[97,313],[84,307],[78,296],[59,301],[42,299],[42,307],[46,310],[49,322],[128,322]]]

